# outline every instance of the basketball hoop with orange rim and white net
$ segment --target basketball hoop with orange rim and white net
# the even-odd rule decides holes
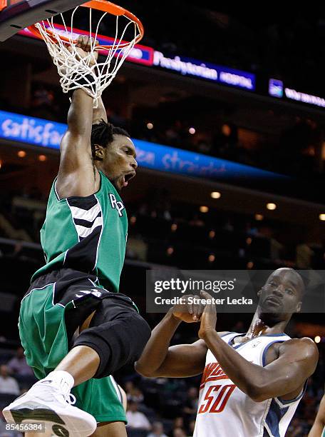
[[[79,9],[89,10],[89,31],[78,31],[73,28],[73,20]],[[93,10],[102,11],[103,14],[98,19],[96,31],[93,32]],[[112,38],[112,44],[95,44],[98,39],[98,29],[103,23],[105,17],[115,16],[115,36]],[[125,58],[130,54],[135,44],[143,38],[144,29],[141,21],[126,9],[117,6],[106,0],[93,0],[88,3],[77,6],[73,9],[70,19],[70,26],[67,26],[63,14],[39,21],[29,26],[31,31],[39,39],[45,41],[48,52],[53,59],[53,63],[58,69],[61,76],[60,84],[63,93],[73,91],[77,88],[84,89],[94,99],[94,106],[98,104],[98,97],[103,90],[113,81],[118,70],[122,66]],[[61,23],[58,24],[58,19]],[[120,21],[125,19],[123,29],[119,30]],[[122,24],[123,25],[123,24]],[[131,34],[130,41],[125,41],[127,31]],[[91,50],[88,55],[81,59],[76,50],[77,39],[79,35],[91,37]],[[68,50],[69,47],[69,50]],[[100,51],[105,56],[104,61],[96,62],[93,65],[94,51]],[[83,79],[80,85],[80,81]]]

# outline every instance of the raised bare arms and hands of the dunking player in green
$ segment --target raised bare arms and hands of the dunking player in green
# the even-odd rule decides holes
[[[87,36],[78,38],[78,55],[88,56],[91,41]],[[95,64],[97,54],[90,63]],[[104,109],[105,111],[105,109]],[[91,154],[91,127],[93,118],[103,115],[103,102],[96,114],[93,113],[93,98],[83,89],[73,91],[68,111],[68,130],[61,141],[61,159],[56,182],[56,191],[62,198],[69,196],[89,196],[98,191],[99,175],[93,166]]]

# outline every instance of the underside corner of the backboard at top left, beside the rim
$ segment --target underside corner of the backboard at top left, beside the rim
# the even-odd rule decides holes
[[[0,0],[0,41],[26,26],[66,12],[87,0]]]

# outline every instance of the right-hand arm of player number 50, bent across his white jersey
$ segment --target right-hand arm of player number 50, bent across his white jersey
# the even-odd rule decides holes
[[[202,297],[211,299],[208,293]],[[314,373],[318,350],[309,338],[288,340],[279,346],[279,358],[267,366],[249,363],[215,331],[217,312],[212,303],[202,313],[199,337],[217,358],[233,383],[256,402],[286,396],[303,386]]]

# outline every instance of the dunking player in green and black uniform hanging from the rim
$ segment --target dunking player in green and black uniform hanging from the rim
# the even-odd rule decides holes
[[[78,56],[90,43],[78,38]],[[58,436],[126,436],[110,375],[138,359],[150,337],[133,301],[117,293],[128,229],[119,192],[136,168],[128,133],[107,123],[101,99],[93,109],[76,89],[41,229],[46,265],[19,316],[26,361],[41,381],[4,408],[7,421],[46,421]]]

